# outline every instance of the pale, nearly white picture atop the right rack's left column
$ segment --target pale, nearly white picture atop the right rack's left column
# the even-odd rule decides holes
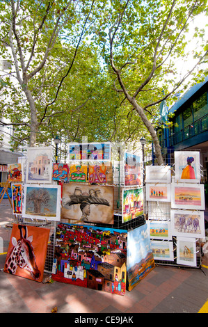
[[[170,183],[170,166],[146,166],[147,183]]]

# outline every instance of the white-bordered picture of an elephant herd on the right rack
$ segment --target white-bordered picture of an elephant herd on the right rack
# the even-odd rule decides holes
[[[205,237],[205,214],[197,210],[171,210],[172,234],[180,237]]]

